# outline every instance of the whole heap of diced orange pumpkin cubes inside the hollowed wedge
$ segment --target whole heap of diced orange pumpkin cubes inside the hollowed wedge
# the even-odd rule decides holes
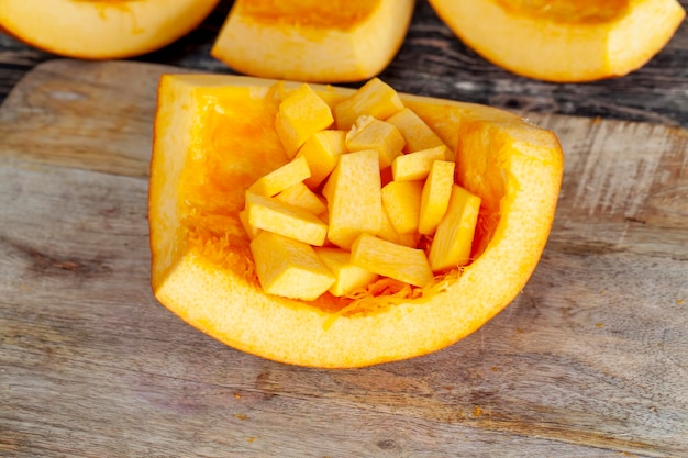
[[[480,198],[390,86],[373,79],[331,107],[304,83],[275,129],[289,161],[247,189],[240,213],[266,292],[347,297],[385,277],[423,288],[470,261]]]

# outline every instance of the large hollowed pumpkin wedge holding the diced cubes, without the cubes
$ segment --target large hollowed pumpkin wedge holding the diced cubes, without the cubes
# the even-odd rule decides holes
[[[456,152],[456,181],[482,199],[475,260],[419,299],[265,293],[238,212],[246,189],[289,159],[275,132],[275,81],[164,76],[149,182],[152,283],[184,321],[241,350],[312,367],[359,367],[428,354],[467,336],[529,280],[562,179],[556,136],[497,109],[402,94]],[[285,83],[281,91],[296,88]],[[352,90],[313,86],[331,104]]]

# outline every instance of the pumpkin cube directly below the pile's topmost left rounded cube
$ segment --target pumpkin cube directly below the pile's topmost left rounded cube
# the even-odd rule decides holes
[[[308,160],[311,176],[306,180],[309,188],[318,188],[334,169],[340,155],[346,153],[346,131],[324,130],[315,132],[306,141],[297,157]]]

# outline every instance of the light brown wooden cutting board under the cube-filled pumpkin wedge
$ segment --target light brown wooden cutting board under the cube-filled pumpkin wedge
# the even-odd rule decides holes
[[[522,294],[436,354],[315,370],[151,293],[168,71],[51,62],[0,108],[0,455],[688,456],[688,131],[529,115],[566,169]]]

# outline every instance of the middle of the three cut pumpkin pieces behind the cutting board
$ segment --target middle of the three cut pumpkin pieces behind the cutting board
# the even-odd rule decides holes
[[[211,54],[246,75],[360,81],[406,37],[413,0],[236,0]]]

